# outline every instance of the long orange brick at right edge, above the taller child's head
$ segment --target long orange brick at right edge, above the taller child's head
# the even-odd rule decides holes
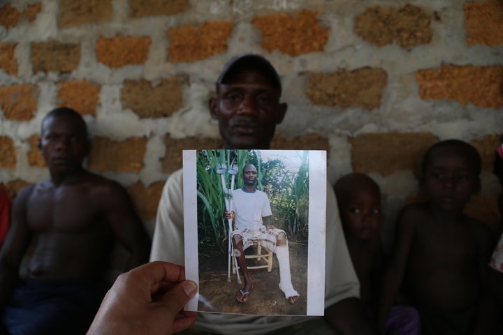
[[[418,70],[416,80],[422,99],[503,107],[503,66],[442,65],[438,70]]]

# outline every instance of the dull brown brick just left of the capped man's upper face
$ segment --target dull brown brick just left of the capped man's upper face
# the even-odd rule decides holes
[[[182,85],[187,82],[187,77],[177,76],[152,87],[147,80],[126,80],[121,89],[122,107],[139,117],[169,117],[183,107]]]

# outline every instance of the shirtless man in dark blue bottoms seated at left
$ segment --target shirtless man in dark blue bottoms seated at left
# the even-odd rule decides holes
[[[80,114],[52,110],[38,148],[50,177],[15,199],[0,254],[1,320],[15,334],[84,334],[103,299],[115,239],[130,253],[128,269],[147,262],[150,244],[124,188],[82,168],[89,140]]]

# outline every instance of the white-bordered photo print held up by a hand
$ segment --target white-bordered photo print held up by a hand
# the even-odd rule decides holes
[[[184,150],[188,311],[323,315],[326,151]]]

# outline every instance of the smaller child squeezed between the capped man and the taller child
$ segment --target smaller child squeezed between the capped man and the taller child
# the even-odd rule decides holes
[[[360,281],[360,297],[370,315],[375,316],[382,264],[381,192],[370,177],[359,173],[340,178],[334,189],[349,254]],[[393,306],[386,334],[421,334],[417,311],[409,306]]]

